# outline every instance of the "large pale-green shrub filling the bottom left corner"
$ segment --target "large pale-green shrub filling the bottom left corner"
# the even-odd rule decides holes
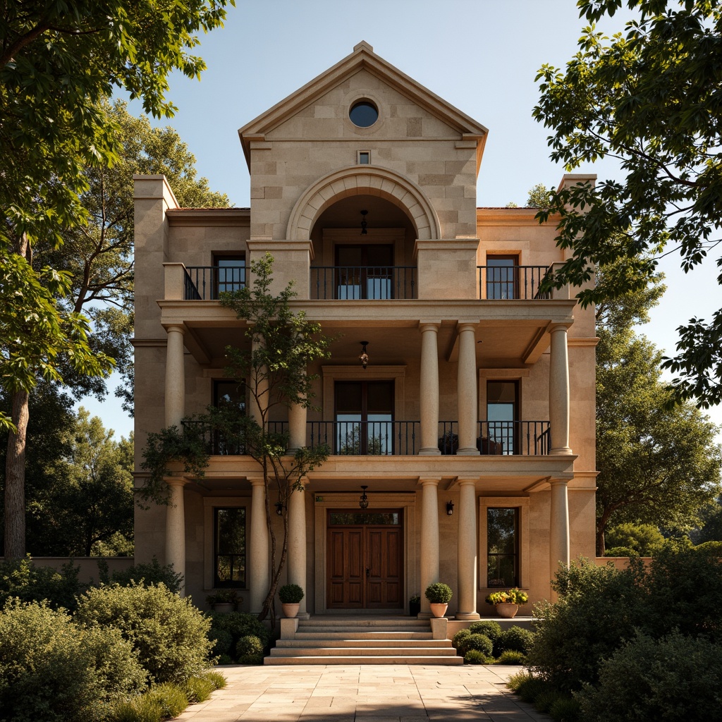
[[[146,674],[115,630],[80,627],[64,610],[10,601],[0,614],[0,715],[95,722]]]

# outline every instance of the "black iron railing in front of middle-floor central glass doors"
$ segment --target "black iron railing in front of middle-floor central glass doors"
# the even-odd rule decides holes
[[[310,421],[310,447],[327,444],[336,456],[410,456],[418,421]]]

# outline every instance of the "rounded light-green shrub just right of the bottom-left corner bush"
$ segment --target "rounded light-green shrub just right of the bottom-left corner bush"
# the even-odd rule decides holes
[[[209,619],[190,599],[162,583],[91,589],[80,598],[76,618],[86,625],[120,630],[157,683],[184,682],[208,666]]]

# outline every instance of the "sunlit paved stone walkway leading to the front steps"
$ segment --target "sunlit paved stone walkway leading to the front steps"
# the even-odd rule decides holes
[[[505,687],[520,667],[406,664],[217,668],[228,685],[183,722],[547,722]]]

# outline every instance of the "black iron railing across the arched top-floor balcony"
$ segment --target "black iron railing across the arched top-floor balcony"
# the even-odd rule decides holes
[[[311,266],[314,300],[416,297],[416,266]]]

